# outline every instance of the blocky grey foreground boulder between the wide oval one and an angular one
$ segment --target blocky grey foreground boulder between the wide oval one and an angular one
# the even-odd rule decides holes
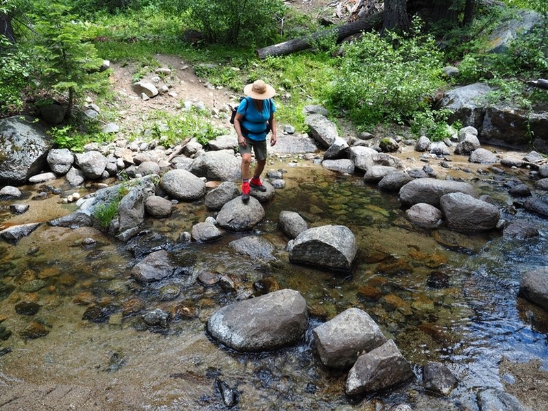
[[[386,343],[386,337],[371,316],[359,308],[349,308],[314,328],[314,343],[323,364],[346,368],[360,352],[369,352]]]

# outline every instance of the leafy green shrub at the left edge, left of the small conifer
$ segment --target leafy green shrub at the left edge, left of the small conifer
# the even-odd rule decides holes
[[[23,108],[22,93],[28,86],[32,69],[25,51],[0,35],[0,113]]]

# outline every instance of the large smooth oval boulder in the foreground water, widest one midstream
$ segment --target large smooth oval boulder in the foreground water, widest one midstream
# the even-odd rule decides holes
[[[307,327],[306,301],[298,291],[288,289],[223,307],[208,321],[211,336],[238,351],[290,345]]]

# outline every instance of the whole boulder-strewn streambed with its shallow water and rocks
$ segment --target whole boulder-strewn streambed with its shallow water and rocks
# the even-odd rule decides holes
[[[314,140],[284,134],[278,150],[325,154],[274,155],[267,192],[245,210],[219,174],[237,171],[237,158],[197,146],[171,165],[162,161],[176,149],[147,146],[135,161],[122,144],[110,159],[90,147],[91,160],[66,167],[82,185],[53,175],[20,194],[3,188],[3,408],[545,408],[543,158],[478,152],[472,130],[452,144],[393,138],[374,149],[369,136],[341,142],[316,119],[325,127]],[[483,160],[469,162],[474,152]],[[108,167],[132,162],[131,184],[108,179]],[[100,173],[86,171],[95,163]],[[101,224],[97,210],[116,197],[118,218]],[[249,327],[258,308],[238,304],[286,289],[306,304],[299,325],[276,331],[272,311]],[[270,343],[223,336],[230,310],[240,317],[229,327],[271,327]],[[366,356],[381,345],[381,357],[401,353],[401,384],[356,388],[357,353],[347,354],[357,346],[330,341],[345,321],[378,328],[360,346]]]

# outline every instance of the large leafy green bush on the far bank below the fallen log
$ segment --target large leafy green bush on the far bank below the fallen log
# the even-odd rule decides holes
[[[443,55],[434,38],[366,33],[345,47],[331,90],[332,103],[358,125],[406,123],[416,112],[429,110],[441,79]]]

